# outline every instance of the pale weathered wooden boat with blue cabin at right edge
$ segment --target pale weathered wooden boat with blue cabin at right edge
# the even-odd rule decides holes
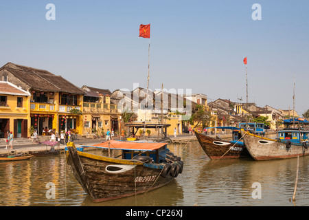
[[[304,129],[278,131],[276,140],[241,130],[244,144],[255,160],[286,159],[309,155],[308,133]]]

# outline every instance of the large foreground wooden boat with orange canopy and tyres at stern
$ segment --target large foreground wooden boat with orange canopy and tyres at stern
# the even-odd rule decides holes
[[[67,144],[67,164],[93,202],[154,190],[170,183],[183,169],[180,157],[166,143],[111,140],[91,147],[108,149],[108,155],[112,149],[121,151],[117,157],[106,157],[77,151],[73,142]]]

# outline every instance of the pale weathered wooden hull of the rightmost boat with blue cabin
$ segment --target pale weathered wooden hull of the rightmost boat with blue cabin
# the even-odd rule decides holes
[[[309,155],[309,149],[305,148],[303,144],[290,144],[290,147],[287,147],[286,143],[279,140],[268,139],[251,133],[244,135],[244,132],[241,131],[244,136],[244,144],[255,160],[286,159]]]

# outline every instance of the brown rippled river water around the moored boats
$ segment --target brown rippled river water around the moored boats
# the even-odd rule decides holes
[[[297,158],[256,162],[211,161],[198,142],[170,144],[185,163],[172,183],[146,194],[93,203],[65,164],[65,154],[0,162],[0,206],[309,206],[309,157],[299,158],[296,203],[293,197]],[[95,153],[98,153],[95,152]],[[54,198],[48,184],[54,184]],[[253,183],[261,199],[253,199]]]

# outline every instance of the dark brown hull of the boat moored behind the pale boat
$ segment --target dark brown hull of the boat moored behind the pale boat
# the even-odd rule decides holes
[[[198,142],[209,159],[239,159],[251,157],[247,148],[240,144],[220,140],[214,137],[209,137],[202,133],[195,133]]]

